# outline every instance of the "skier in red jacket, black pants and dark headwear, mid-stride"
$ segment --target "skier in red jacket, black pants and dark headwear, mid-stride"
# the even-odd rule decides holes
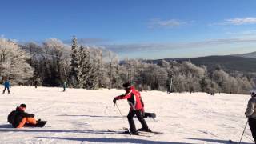
[[[127,118],[130,125],[130,133],[138,135],[138,131],[136,130],[133,119],[135,114],[138,118],[138,121],[142,124],[142,128],[139,130],[150,132],[151,130],[147,126],[146,121],[142,116],[142,102],[140,98],[141,94],[138,92],[138,90],[135,90],[134,86],[131,86],[129,82],[124,83],[122,86],[126,90],[126,94],[115,97],[113,99],[113,102],[116,103],[116,101],[119,99],[127,99],[127,101],[129,102],[130,111],[129,114],[127,115]]]

